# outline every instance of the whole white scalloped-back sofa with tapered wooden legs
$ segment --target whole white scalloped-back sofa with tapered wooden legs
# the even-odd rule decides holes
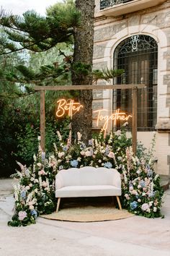
[[[120,210],[120,173],[113,168],[69,168],[55,176],[55,197],[58,198],[58,212],[61,197],[104,197],[116,196]]]

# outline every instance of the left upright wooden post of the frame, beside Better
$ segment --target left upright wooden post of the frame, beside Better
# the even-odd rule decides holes
[[[40,91],[40,145],[45,152],[45,90]]]

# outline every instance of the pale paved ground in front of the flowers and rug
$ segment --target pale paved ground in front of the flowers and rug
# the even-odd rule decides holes
[[[0,180],[1,256],[170,256],[170,189],[162,208],[165,218],[134,216],[118,221],[73,223],[37,219],[14,228],[11,180]]]

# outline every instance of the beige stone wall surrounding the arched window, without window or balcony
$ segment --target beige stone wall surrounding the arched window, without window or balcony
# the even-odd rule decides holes
[[[156,155],[158,172],[170,174],[170,1],[156,7],[125,14],[104,17],[96,0],[94,26],[94,69],[113,67],[113,54],[117,45],[131,35],[150,35],[158,43],[158,119]],[[105,96],[104,96],[105,95]],[[103,95],[101,103],[112,109],[112,90]],[[95,97],[95,105],[98,99]],[[95,118],[94,118],[95,125]],[[151,137],[151,135],[149,135]]]

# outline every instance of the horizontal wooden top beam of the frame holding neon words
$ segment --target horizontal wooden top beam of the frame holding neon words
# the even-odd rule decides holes
[[[146,85],[55,85],[55,86],[35,86],[34,90],[116,90],[116,89],[143,89]]]

